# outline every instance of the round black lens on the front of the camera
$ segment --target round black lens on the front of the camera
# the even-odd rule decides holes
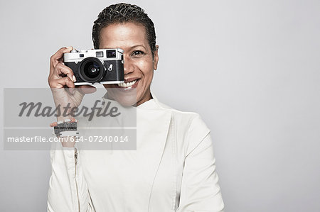
[[[85,82],[99,82],[105,75],[105,67],[99,59],[87,57],[80,64],[79,75]]]

